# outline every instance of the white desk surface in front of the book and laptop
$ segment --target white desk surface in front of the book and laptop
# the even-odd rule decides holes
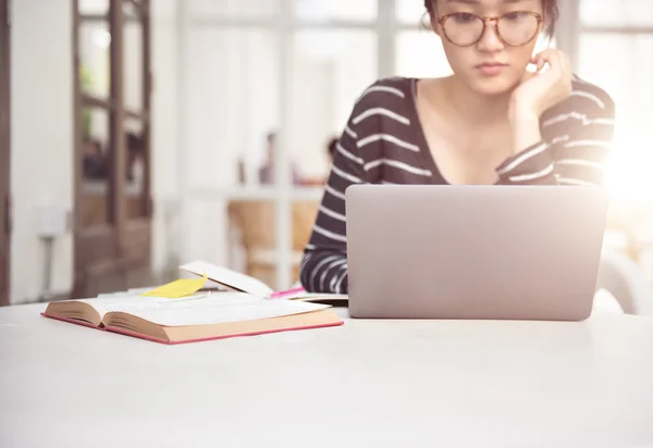
[[[0,309],[0,446],[653,446],[653,319],[163,346]]]

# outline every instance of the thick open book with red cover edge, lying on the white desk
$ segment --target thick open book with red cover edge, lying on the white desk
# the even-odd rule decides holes
[[[342,325],[326,304],[269,300],[246,293],[181,299],[115,295],[48,303],[42,315],[163,344]]]

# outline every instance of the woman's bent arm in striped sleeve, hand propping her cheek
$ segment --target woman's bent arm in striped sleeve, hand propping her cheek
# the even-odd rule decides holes
[[[527,74],[510,97],[515,155],[496,169],[498,183],[603,185],[614,135],[613,100],[574,79],[569,57],[560,50],[544,50],[531,62],[538,72]]]

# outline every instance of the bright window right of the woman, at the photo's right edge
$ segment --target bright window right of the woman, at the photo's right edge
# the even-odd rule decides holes
[[[650,199],[653,181],[644,170],[653,153],[643,142],[653,116],[653,2],[582,0],[580,17],[578,74],[616,102],[609,186],[618,198]]]

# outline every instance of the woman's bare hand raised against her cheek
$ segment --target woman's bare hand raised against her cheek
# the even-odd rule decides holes
[[[544,50],[535,54],[531,63],[538,66],[538,72],[527,74],[510,97],[509,120],[514,123],[539,121],[546,109],[571,92],[571,62],[566,53]],[[549,69],[540,73],[545,64]]]

